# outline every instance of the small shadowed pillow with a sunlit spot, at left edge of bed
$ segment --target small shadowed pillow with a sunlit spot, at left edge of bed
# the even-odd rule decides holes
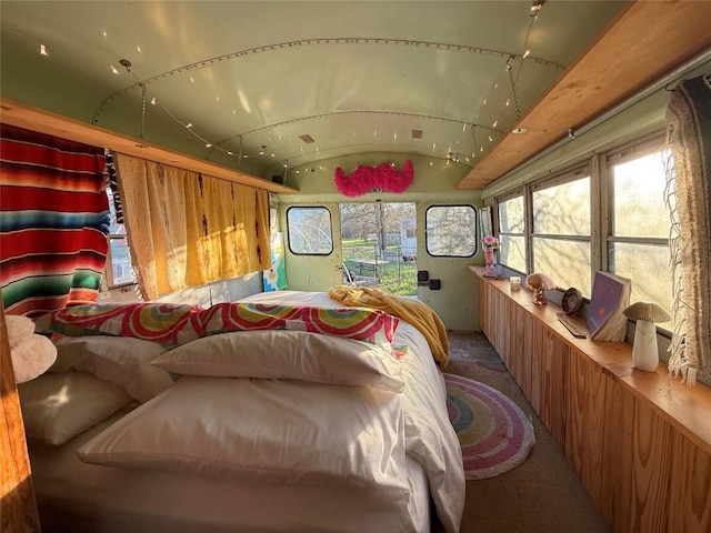
[[[123,389],[86,372],[42,374],[18,385],[28,440],[59,446],[131,402]]]

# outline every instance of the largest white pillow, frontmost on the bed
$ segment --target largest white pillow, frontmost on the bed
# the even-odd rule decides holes
[[[107,466],[354,486],[407,497],[402,394],[186,375],[77,455]]]

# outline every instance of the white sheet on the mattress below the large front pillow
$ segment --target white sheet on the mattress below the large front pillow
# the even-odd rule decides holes
[[[421,465],[407,459],[409,525],[369,491],[274,485],[97,466],[74,450],[124,413],[60,447],[31,446],[42,533],[395,533],[429,532]]]

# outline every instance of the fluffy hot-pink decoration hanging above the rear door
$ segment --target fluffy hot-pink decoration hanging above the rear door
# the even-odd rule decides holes
[[[339,192],[346,197],[360,197],[367,192],[404,192],[412,184],[414,170],[412,161],[407,160],[402,170],[395,170],[391,163],[378,167],[359,164],[352,174],[346,175],[340,167],[333,173]]]

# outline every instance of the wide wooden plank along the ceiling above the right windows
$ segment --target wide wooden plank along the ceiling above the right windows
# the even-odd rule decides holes
[[[711,47],[711,2],[637,1],[458,184],[479,190]]]

